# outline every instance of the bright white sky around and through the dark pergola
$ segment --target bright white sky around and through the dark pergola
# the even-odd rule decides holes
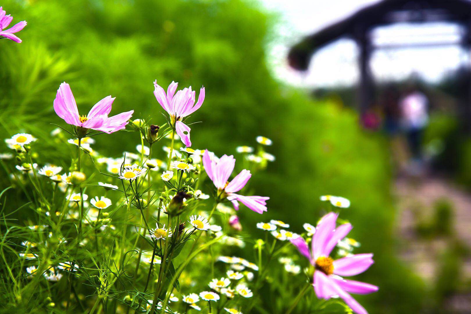
[[[333,24],[358,9],[379,0],[260,0],[270,11],[279,12],[282,21],[277,37],[269,46],[271,62],[278,79],[302,87],[352,85],[357,81],[357,47],[352,40],[333,42],[311,59],[309,71],[300,73],[286,63],[289,47],[303,36]],[[462,30],[454,24],[396,24],[376,29],[374,42],[454,43]],[[469,62],[469,55],[455,45],[426,48],[389,48],[376,50],[371,60],[375,78],[400,80],[418,73],[427,81],[439,81],[444,74]]]

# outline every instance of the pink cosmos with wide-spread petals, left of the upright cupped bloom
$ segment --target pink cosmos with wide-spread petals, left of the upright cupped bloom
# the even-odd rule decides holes
[[[66,82],[60,84],[54,99],[54,111],[68,124],[84,129],[94,129],[106,133],[113,133],[124,129],[134,110],[108,117],[115,97],[107,96],[97,102],[87,115],[79,116],[72,90]]]

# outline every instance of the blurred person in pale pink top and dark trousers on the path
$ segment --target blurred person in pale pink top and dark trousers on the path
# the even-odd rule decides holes
[[[420,90],[410,88],[400,100],[401,124],[406,134],[413,174],[422,170],[422,134],[429,121],[429,100]]]

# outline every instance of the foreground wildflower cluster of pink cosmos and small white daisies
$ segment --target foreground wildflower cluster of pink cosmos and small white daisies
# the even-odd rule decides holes
[[[0,38],[21,42],[13,33],[26,22],[4,30],[11,20],[0,7]],[[111,96],[79,114],[63,82],[51,101],[68,126],[57,125],[51,137],[72,148],[70,158],[40,154],[36,145],[45,139],[28,133],[5,139],[10,151],[0,161],[11,186],[0,193],[6,226],[1,232],[9,249],[1,256],[9,263],[1,278],[15,296],[7,306],[29,313],[35,309],[22,300],[44,298],[51,313],[242,314],[260,307],[262,289],[271,289],[284,298],[286,313],[308,291],[316,294],[316,306],[340,297],[349,311],[366,313],[350,293],[378,288],[343,278],[373,264],[372,254],[352,253],[359,247],[346,238],[352,226],[337,226],[338,211],[317,226],[304,224],[301,233],[266,219],[256,224],[265,240],[254,239],[236,211],[268,211],[269,197],[251,195],[247,185],[252,174],[275,161],[265,151],[273,141],[258,136],[256,148],[237,147],[237,163],[234,155],[218,157],[211,147],[192,148],[188,120],[206,91],[202,87],[196,100],[191,86],[177,89],[174,81],[166,91],[154,82],[165,121],[157,120],[157,110],[132,120],[133,110],[109,116]],[[95,150],[103,137],[124,129],[135,135],[135,150],[118,156]],[[10,189],[26,203],[8,208]],[[338,196],[321,200],[337,210],[350,206]],[[22,213],[18,219],[7,218],[16,212]],[[298,260],[295,249],[307,260]],[[301,290],[296,298],[286,296],[292,286]]]

